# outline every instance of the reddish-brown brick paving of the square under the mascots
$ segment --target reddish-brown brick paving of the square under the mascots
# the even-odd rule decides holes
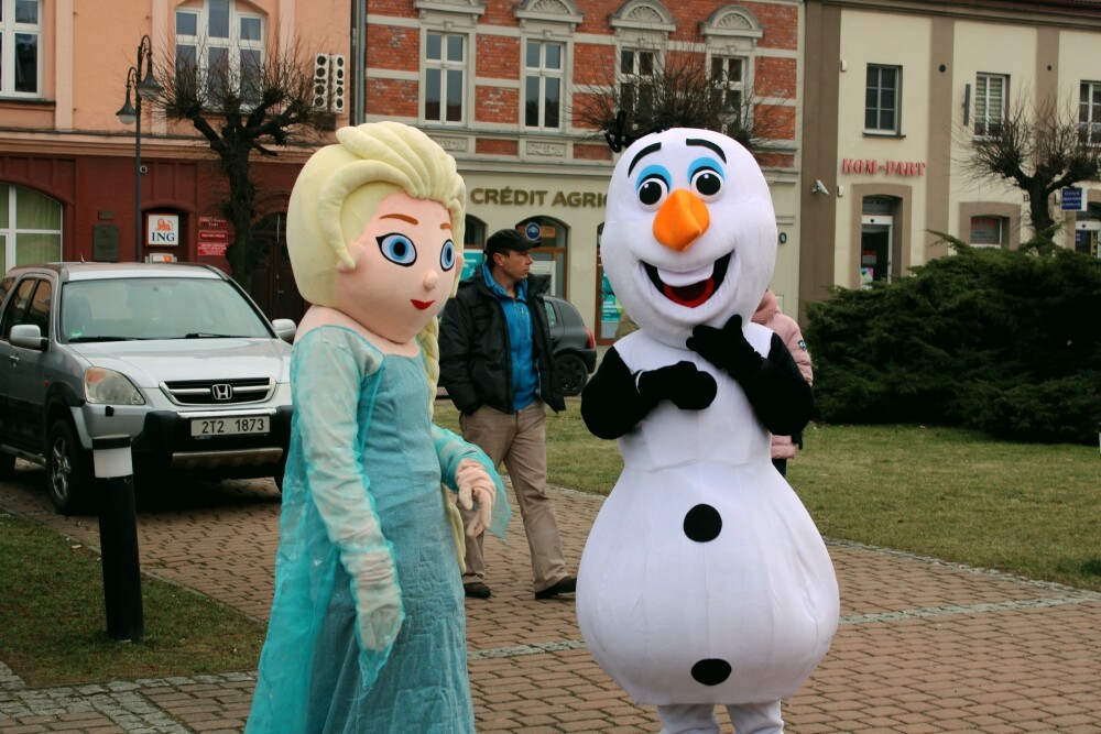
[[[95,517],[53,514],[42,472],[0,483],[0,510],[98,545]],[[600,497],[554,492],[576,563]],[[142,569],[266,618],[279,495],[265,481],[199,486],[140,513]],[[517,518],[519,521],[519,518]],[[481,732],[657,732],[593,662],[569,598],[536,602],[519,522],[487,541],[493,598],[470,600]],[[785,703],[795,734],[1101,733],[1101,594],[831,543],[841,625]],[[2,631],[0,631],[2,634]],[[0,734],[239,732],[254,671],[32,689],[0,664]],[[722,716],[729,731],[729,723]]]

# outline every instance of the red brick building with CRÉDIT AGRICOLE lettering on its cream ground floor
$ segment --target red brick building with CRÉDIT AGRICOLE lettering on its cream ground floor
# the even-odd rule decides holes
[[[598,242],[612,153],[581,122],[585,99],[644,86],[666,54],[734,69],[731,94],[782,121],[764,162],[782,232],[774,286],[791,308],[802,23],[799,0],[372,0],[366,119],[416,125],[456,157],[469,193],[468,266],[493,231],[522,229],[539,240],[536,270],[608,343],[618,309]]]

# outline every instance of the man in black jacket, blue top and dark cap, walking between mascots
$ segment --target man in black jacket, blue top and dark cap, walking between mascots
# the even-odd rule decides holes
[[[574,591],[566,572],[554,501],[546,493],[546,407],[566,407],[554,375],[543,295],[531,275],[534,242],[514,229],[486,242],[481,267],[459,284],[440,317],[439,384],[459,409],[462,436],[509,470],[532,551],[536,599]],[[472,513],[462,511],[464,522]],[[466,538],[467,596],[488,599],[483,536]]]

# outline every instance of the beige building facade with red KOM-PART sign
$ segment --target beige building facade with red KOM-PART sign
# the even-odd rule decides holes
[[[807,0],[806,13],[800,300],[947,254],[934,232],[1028,240],[1024,191],[975,175],[969,145],[1017,105],[1057,100],[1093,124],[1101,4]],[[1097,254],[1101,185],[1077,186],[1083,211],[1048,202],[1058,241]]]

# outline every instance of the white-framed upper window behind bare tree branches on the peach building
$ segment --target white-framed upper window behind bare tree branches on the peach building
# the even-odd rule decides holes
[[[241,102],[260,101],[264,63],[263,17],[239,12],[232,0],[207,0],[201,8],[176,11],[176,76],[205,87],[208,100],[220,103],[239,95]]]

